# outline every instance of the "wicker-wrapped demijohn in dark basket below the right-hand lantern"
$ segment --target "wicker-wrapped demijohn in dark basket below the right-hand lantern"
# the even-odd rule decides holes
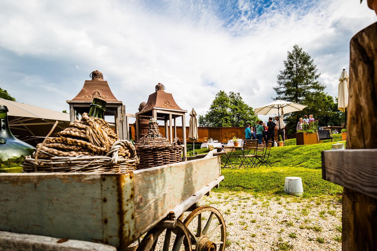
[[[149,122],[148,133],[135,143],[140,158],[137,169],[162,166],[181,161],[182,146],[179,138],[170,143],[161,135],[155,119]]]

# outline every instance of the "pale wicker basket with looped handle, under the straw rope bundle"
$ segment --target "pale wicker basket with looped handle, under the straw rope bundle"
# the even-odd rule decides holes
[[[125,157],[118,155],[120,149],[125,149]],[[48,154],[47,152],[41,152],[43,154]],[[35,156],[28,156],[21,166],[23,167],[24,172],[127,173],[135,170],[138,163],[139,158],[136,155],[135,147],[131,142],[128,140],[118,140],[112,145],[105,156],[55,156],[50,159],[36,159]]]

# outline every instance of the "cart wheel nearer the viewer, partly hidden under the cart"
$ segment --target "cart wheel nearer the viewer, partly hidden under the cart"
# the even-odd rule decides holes
[[[189,231],[182,221],[163,221],[156,227],[152,228],[141,241],[136,251],[154,251],[157,245],[158,237],[164,232],[164,242],[162,251],[192,251]],[[173,234],[172,234],[173,233]],[[174,242],[171,240],[174,239]],[[170,243],[173,243],[170,247]],[[162,243],[161,243],[162,245]]]

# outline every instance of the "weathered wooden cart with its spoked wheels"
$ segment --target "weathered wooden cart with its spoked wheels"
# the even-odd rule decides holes
[[[218,153],[126,174],[2,174],[0,230],[99,242],[120,250],[143,236],[137,250],[148,251],[164,234],[158,249],[223,251],[221,213],[197,204],[224,179],[214,155]],[[185,211],[191,213],[184,219]]]

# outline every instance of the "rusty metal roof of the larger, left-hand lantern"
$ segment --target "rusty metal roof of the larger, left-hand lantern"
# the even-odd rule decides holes
[[[92,71],[89,76],[92,78],[92,80],[86,80],[81,91],[72,100],[67,101],[67,103],[72,101],[91,103],[95,97],[98,99],[103,99],[107,103],[122,103],[116,99],[110,90],[107,81],[103,80],[103,74],[100,71]]]

